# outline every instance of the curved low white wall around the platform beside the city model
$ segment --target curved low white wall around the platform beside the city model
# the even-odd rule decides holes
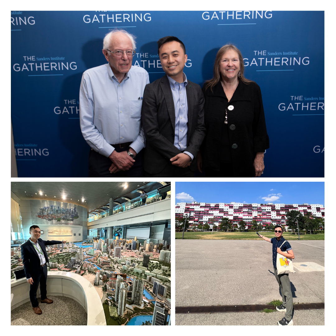
[[[11,287],[11,310],[30,302],[29,289],[26,278],[10,281]],[[37,297],[40,295],[40,287],[37,290]],[[77,301],[87,313],[88,326],[106,326],[105,314],[100,297],[94,286],[82,276],[62,271],[49,271],[47,278],[47,296],[66,296]],[[57,308],[54,302],[51,307]],[[44,305],[41,304],[43,311]],[[50,307],[50,308],[51,308]],[[63,307],[64,308],[64,307]],[[33,314],[34,319],[37,317],[29,303],[29,313]],[[48,308],[49,309],[49,308]],[[42,313],[43,315],[43,313]],[[41,316],[42,316],[41,315]],[[61,317],[59,317],[59,324],[61,324]]]

